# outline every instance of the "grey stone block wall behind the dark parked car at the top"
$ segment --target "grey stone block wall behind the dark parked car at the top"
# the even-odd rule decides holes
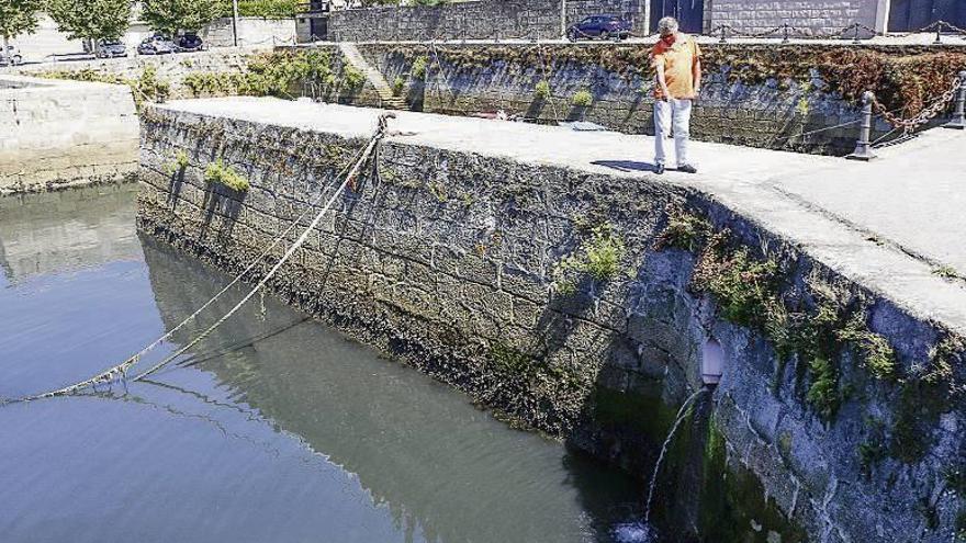
[[[566,24],[600,13],[624,16],[633,33],[648,33],[648,0],[570,0]],[[328,39],[377,42],[411,39],[507,39],[561,36],[557,0],[478,0],[435,8],[394,7],[335,11]]]

